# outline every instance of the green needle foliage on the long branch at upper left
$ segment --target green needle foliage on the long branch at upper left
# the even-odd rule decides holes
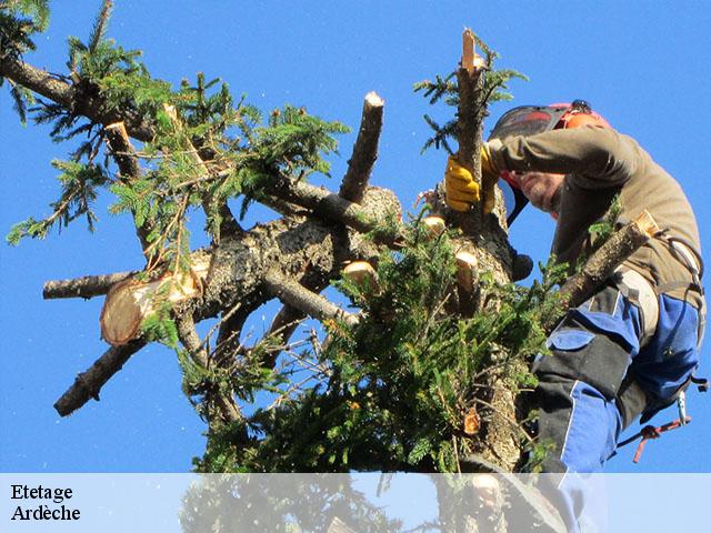
[[[6,2],[0,13],[11,17],[16,11],[24,12],[43,23],[41,3],[11,2],[8,8]],[[16,224],[8,240],[18,243],[22,237],[43,238],[52,224],[66,225],[80,214],[87,215],[92,229],[96,215],[90,203],[103,187],[117,197],[110,212],[130,213],[147,235],[149,268],[160,264],[171,271],[186,270],[186,221],[191,209],[206,211],[206,230],[219,239],[221,208],[229,199],[243,198],[243,215],[252,200],[262,198],[266,187],[307,179],[313,172],[328,175],[324,157],[337,152],[333,135],[348,129],[292,105],[274,110],[262,124],[261,113],[247,104],[244,97],[236,101],[226,83],[208,81],[203,73],[198,73],[194,84],[183,80],[174,91],[150,76],[139,61],[140,51],[126,50],[107,37],[112,4],[110,0],[102,2],[87,41],[69,38],[69,76],[63,80],[72,84],[79,105],[101,102],[104,115],[116,112],[127,121],[153,128],[153,139],[138,152],[149,171],[109,179],[116,175],[109,159],[101,164],[98,158],[103,150],[103,124],[91,122],[74,109],[39,100],[30,109],[33,120],[51,124],[50,137],[56,142],[81,135],[71,164],[91,172],[69,172],[77,179],[64,183],[62,197],[52,204],[54,213],[46,220]],[[27,33],[41,27],[33,19],[17,20],[17,31]],[[26,48],[31,48],[30,43]],[[10,90],[24,120],[28,103],[34,102],[31,93],[16,86]]]

